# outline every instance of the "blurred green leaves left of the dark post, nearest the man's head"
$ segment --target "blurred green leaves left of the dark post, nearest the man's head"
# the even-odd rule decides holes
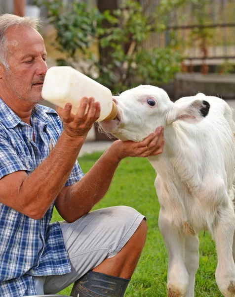
[[[34,0],[34,4],[45,5],[50,24],[56,29],[56,49],[75,57],[78,50],[85,53],[97,36],[97,23],[101,15],[97,9],[89,12],[86,4],[74,1],[66,5],[61,0]]]

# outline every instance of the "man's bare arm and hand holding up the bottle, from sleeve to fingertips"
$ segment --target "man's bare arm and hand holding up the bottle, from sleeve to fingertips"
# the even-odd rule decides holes
[[[100,115],[99,104],[81,100],[76,116],[69,108],[59,109],[63,114],[65,129],[49,156],[29,176],[17,171],[0,179],[0,203],[33,218],[44,216],[51,203],[64,187],[77,160],[79,150],[92,124]]]

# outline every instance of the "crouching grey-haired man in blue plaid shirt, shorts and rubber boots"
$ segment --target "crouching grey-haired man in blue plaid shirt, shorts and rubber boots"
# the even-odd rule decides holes
[[[60,117],[38,105],[47,66],[37,28],[30,18],[0,16],[0,296],[56,294],[76,282],[71,296],[122,297],[144,247],[145,217],[125,206],[89,211],[121,159],[162,152],[163,129],[141,143],[114,142],[83,176],[78,153],[99,103],[83,98],[73,115],[68,102]],[[64,222],[49,224],[53,205]]]

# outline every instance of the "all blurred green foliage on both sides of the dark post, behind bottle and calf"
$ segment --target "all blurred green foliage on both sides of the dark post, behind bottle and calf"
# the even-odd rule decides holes
[[[167,3],[173,7],[174,2],[162,1],[161,13],[169,9]],[[85,3],[77,1],[64,4],[60,0],[35,0],[35,4],[46,6],[49,23],[56,29],[54,46],[68,57],[57,60],[58,65],[74,66],[79,53],[86,54],[89,67],[84,74],[95,77],[113,92],[139,84],[167,83],[180,71],[181,56],[176,50],[167,47],[146,51],[142,47],[152,31],[165,28],[164,17],[160,19],[157,13],[151,18],[145,15],[148,3],[142,7],[135,0],[126,0],[119,9],[103,13],[97,8],[88,10]],[[98,59],[89,50],[97,41]]]

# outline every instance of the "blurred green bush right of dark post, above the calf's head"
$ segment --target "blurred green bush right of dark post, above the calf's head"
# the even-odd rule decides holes
[[[96,62],[100,76],[98,81],[113,91],[126,90],[139,84],[167,83],[180,71],[180,54],[171,49],[145,50],[142,43],[159,23],[145,16],[146,7],[128,0],[119,9],[104,12],[111,26],[104,29],[100,47],[108,49],[102,63]],[[113,86],[113,87],[112,87]]]

